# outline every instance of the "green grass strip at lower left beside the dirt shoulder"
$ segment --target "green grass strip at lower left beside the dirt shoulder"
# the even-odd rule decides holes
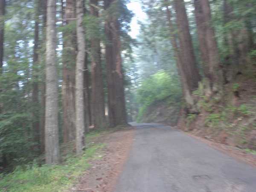
[[[100,132],[87,135],[87,143],[99,137]],[[69,153],[60,165],[28,165],[17,167],[8,175],[0,174],[0,192],[62,192],[68,189],[87,168],[105,144],[88,143],[82,157]]]

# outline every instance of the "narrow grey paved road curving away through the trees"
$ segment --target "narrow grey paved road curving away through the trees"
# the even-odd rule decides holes
[[[256,192],[255,167],[169,126],[134,126],[115,192]]]

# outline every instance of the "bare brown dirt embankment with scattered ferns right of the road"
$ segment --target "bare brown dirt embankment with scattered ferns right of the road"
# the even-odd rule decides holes
[[[226,84],[221,99],[207,100],[201,96],[198,108],[199,114],[180,118],[180,129],[256,153],[256,73],[241,74]]]

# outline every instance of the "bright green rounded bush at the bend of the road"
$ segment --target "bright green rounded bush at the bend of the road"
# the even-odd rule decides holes
[[[167,99],[168,103],[180,102],[181,89],[177,77],[161,70],[145,79],[137,90],[137,102],[141,105],[137,120],[140,121],[154,102]]]

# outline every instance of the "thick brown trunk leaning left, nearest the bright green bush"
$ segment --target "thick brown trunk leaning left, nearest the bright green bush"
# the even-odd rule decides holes
[[[178,28],[178,38],[179,38],[179,48],[180,48],[180,64],[183,70],[180,70],[180,73],[184,73],[186,79],[187,87],[183,87],[185,91],[186,102],[191,108],[195,102],[190,97],[192,91],[198,88],[198,82],[201,80],[201,77],[198,73],[198,68],[196,66],[194,49],[192,45],[192,39],[189,32],[189,23],[186,15],[186,8],[183,0],[175,0],[175,11],[177,19],[177,28]],[[186,98],[186,96],[189,96]]]

